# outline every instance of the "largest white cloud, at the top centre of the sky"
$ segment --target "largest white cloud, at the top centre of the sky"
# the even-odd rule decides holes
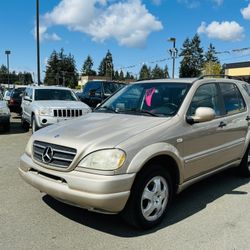
[[[143,46],[151,32],[163,28],[141,0],[62,0],[41,20],[46,28],[42,36],[48,34],[49,27],[63,25],[90,35],[94,41],[113,38],[128,47]]]

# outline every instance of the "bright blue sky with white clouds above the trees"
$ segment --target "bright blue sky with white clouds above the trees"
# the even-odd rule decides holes
[[[0,65],[11,50],[10,70],[36,80],[36,0],[0,1]],[[41,72],[53,50],[71,53],[80,71],[90,55],[97,70],[107,51],[115,70],[137,75],[143,64],[168,65],[176,38],[198,33],[206,51],[212,43],[222,64],[250,60],[250,0],[40,0]],[[176,60],[176,76],[179,62]]]

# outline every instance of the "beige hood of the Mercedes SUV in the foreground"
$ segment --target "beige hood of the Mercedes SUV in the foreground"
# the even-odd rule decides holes
[[[121,142],[171,118],[89,113],[85,116],[57,123],[34,134],[34,140],[46,141],[91,152],[113,148]]]

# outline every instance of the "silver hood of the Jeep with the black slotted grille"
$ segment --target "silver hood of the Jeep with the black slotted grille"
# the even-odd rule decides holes
[[[89,108],[89,106],[80,101],[35,101],[37,107],[42,108]]]

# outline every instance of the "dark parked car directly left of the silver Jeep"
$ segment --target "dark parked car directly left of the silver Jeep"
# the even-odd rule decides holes
[[[17,113],[22,112],[21,103],[24,90],[25,87],[18,87],[10,91],[7,100],[8,100],[8,107],[11,112],[17,112]]]

